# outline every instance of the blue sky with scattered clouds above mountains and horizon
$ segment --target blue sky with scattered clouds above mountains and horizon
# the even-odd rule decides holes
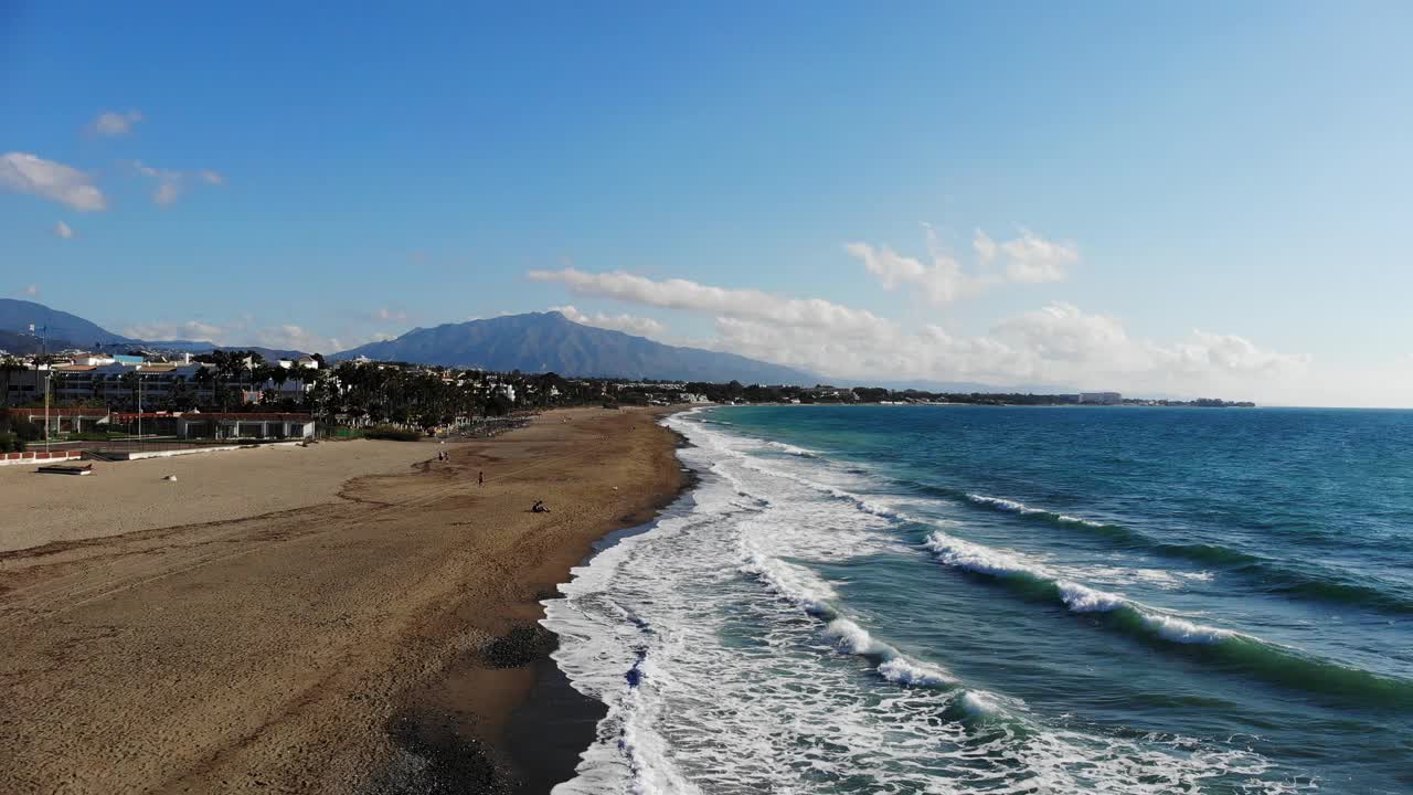
[[[1413,405],[1407,4],[202,6],[0,6],[0,294]]]

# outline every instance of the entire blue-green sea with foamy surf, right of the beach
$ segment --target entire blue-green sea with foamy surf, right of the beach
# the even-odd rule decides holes
[[[1413,412],[739,406],[545,601],[571,794],[1413,792]]]

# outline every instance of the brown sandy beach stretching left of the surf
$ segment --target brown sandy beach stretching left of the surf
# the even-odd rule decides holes
[[[516,791],[537,600],[682,485],[656,417],[0,472],[0,791]]]

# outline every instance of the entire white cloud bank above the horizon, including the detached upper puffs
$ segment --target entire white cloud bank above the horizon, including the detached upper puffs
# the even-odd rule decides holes
[[[941,307],[1006,286],[1058,283],[1080,262],[1072,242],[1022,229],[996,240],[978,229],[969,262],[947,253],[931,226],[928,262],[889,246],[846,243],[845,250],[879,289],[909,289]],[[592,273],[567,266],[530,270],[533,282],[562,284],[571,294],[697,315],[714,335],[697,345],[848,381],[981,382],[1005,388],[1047,383],[1130,393],[1248,398],[1276,382],[1307,375],[1311,358],[1265,348],[1239,334],[1190,328],[1167,341],[1136,337],[1122,318],[1064,300],[1002,317],[982,332],[955,328],[945,315],[916,324],[824,298],[779,296],[756,289],[651,279],[623,270]],[[591,317],[557,307],[588,325],[661,337],[663,324],[622,314]],[[647,320],[647,323],[644,323]]]

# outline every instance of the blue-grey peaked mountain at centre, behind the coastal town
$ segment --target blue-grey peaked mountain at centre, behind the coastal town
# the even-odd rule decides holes
[[[370,342],[329,358],[356,356],[502,372],[552,371],[565,376],[800,385],[820,381],[804,371],[736,354],[664,345],[582,325],[557,311],[414,328],[397,340]]]

